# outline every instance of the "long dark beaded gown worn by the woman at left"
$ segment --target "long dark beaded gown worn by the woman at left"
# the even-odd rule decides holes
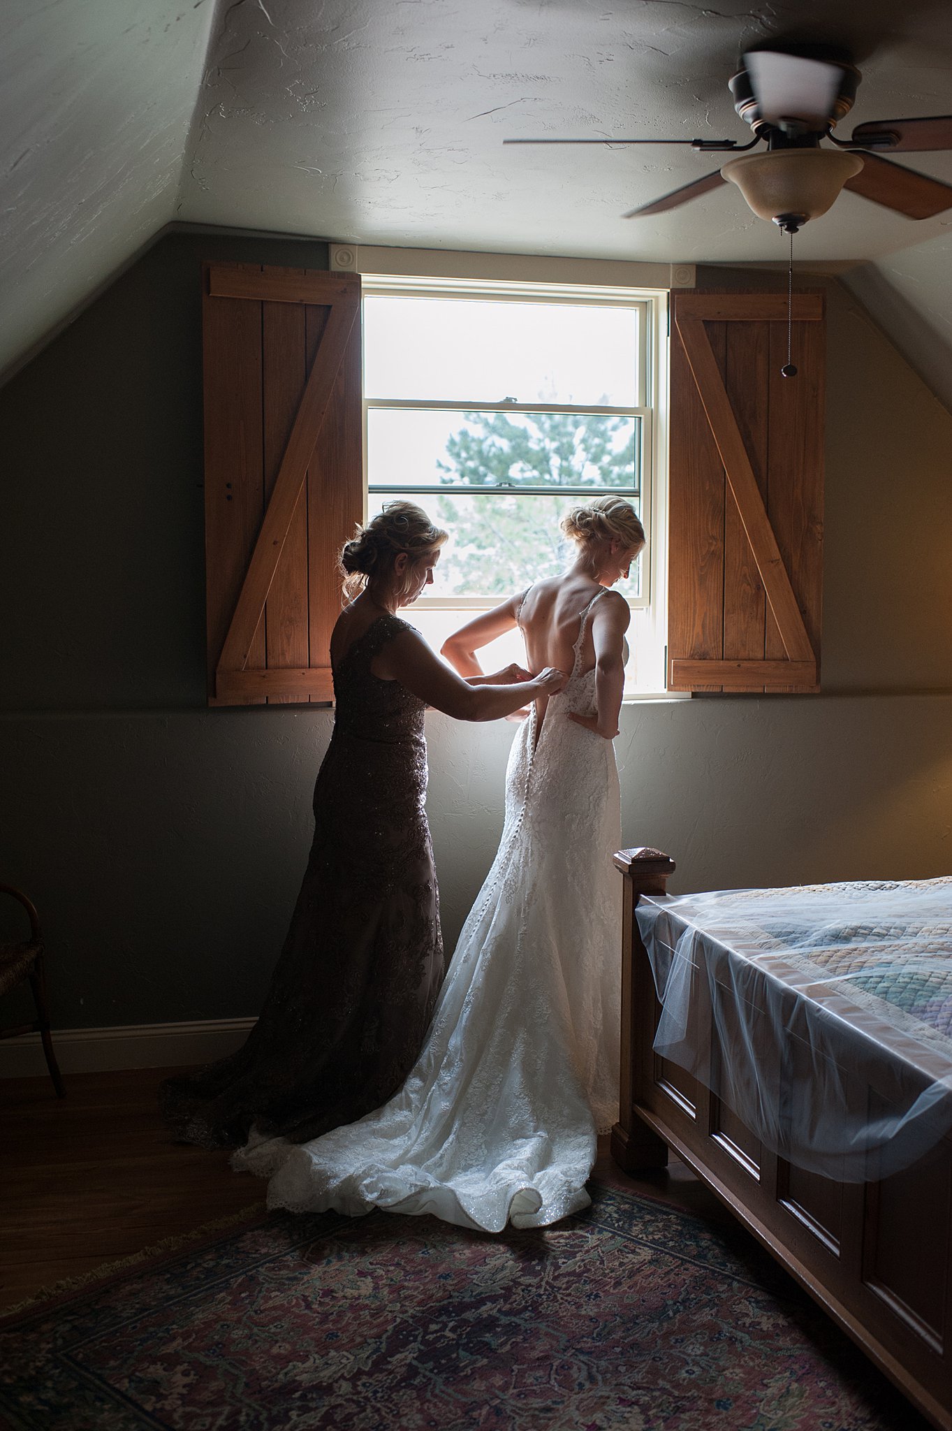
[[[420,1052],[445,967],[425,704],[370,671],[406,628],[379,617],[333,673],[314,843],[264,1007],[237,1053],[162,1086],[184,1142],[317,1138],[386,1103]]]

